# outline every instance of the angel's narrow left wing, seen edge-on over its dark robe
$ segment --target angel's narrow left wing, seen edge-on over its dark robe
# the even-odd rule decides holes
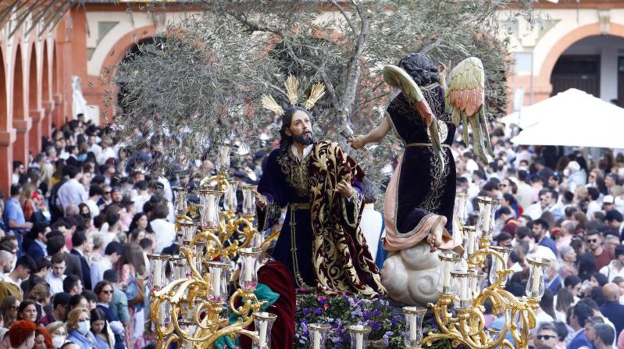
[[[416,84],[406,71],[400,67],[388,64],[383,69],[384,80],[392,87],[401,89],[407,102],[414,106],[423,119],[423,122],[429,122],[429,135],[431,138],[432,148],[436,154],[442,167],[444,167],[444,152],[440,142],[440,136],[438,133],[437,119],[431,111],[431,107],[422,94],[420,87]]]

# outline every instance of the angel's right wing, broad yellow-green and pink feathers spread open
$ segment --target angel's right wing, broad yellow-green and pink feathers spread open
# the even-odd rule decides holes
[[[446,89],[446,105],[451,110],[453,123],[464,123],[464,142],[468,145],[468,125],[474,137],[472,146],[476,155],[487,162],[487,154],[494,157],[494,150],[487,133],[484,111],[485,72],[481,60],[469,57],[457,64],[449,74]]]

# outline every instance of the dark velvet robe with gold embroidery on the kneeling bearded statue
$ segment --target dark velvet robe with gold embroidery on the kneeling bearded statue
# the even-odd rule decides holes
[[[356,194],[347,199],[334,189],[349,174]],[[268,207],[258,209],[258,230],[275,225],[280,210],[288,208],[273,258],[285,263],[297,287],[371,297],[385,292],[358,229],[363,177],[363,170],[335,143],[314,143],[301,162],[290,149],[269,154],[258,184]]]

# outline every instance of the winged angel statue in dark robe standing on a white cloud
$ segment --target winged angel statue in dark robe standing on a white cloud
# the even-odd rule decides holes
[[[448,67],[441,68],[423,54],[409,54],[399,66],[384,67],[384,80],[401,93],[390,102],[378,127],[351,142],[359,149],[392,129],[404,143],[386,190],[383,247],[388,258],[381,275],[389,297],[408,304],[437,299],[439,259],[431,252],[462,250],[449,233],[456,189],[450,145],[459,119],[464,122],[465,140],[467,124],[472,126],[475,154],[486,160],[486,152],[494,155],[483,112],[485,77],[480,60],[470,57],[452,69],[446,93]]]

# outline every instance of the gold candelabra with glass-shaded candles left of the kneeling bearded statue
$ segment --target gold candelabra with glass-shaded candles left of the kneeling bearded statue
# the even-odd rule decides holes
[[[244,217],[237,217],[236,185],[226,175],[229,151],[227,144],[221,145],[218,174],[202,180],[199,205],[188,206],[185,190],[175,189],[176,229],[182,235],[180,255],[148,255],[150,318],[157,348],[167,348],[171,343],[177,343],[178,348],[212,348],[218,338],[235,340],[238,335],[250,337],[256,348],[269,348],[270,333],[266,330],[275,316],[258,313],[266,302],[259,302],[254,294],[256,263],[263,243],[263,235],[253,226],[256,188],[241,186]],[[220,211],[223,195],[225,210]],[[190,220],[189,212],[200,216],[199,222]],[[240,270],[237,280],[232,280],[232,259],[236,256]],[[230,281],[238,283],[231,295]],[[237,317],[233,323],[228,319],[230,314]],[[252,322],[260,331],[246,330]],[[268,327],[266,322],[270,322]]]

